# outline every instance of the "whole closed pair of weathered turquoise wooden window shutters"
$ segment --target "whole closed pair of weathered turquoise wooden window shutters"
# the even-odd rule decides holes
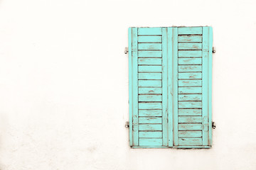
[[[129,28],[129,145],[209,148],[212,28]]]

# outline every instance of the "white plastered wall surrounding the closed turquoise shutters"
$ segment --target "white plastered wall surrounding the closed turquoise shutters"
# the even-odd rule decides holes
[[[0,1],[0,169],[256,169],[255,0]],[[213,26],[212,149],[130,149],[130,26]]]

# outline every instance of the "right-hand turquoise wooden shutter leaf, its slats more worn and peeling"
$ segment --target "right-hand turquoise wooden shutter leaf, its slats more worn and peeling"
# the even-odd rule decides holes
[[[174,146],[208,147],[211,131],[212,28],[178,28],[174,55]],[[174,38],[176,39],[176,38]]]

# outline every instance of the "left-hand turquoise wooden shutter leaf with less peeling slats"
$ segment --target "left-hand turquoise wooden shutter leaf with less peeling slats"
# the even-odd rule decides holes
[[[129,135],[133,147],[168,146],[166,64],[167,28],[129,28]]]

